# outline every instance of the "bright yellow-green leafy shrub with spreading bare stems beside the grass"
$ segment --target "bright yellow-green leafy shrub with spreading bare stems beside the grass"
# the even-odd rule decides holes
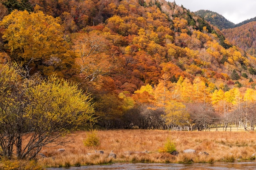
[[[25,127],[28,128],[25,132],[32,134],[28,143],[19,146],[17,156],[21,159],[34,158],[42,146],[49,143],[64,144],[66,141],[60,137],[78,126],[95,121],[90,95],[63,79],[50,76],[41,84],[29,88],[26,95],[29,105],[25,108]]]

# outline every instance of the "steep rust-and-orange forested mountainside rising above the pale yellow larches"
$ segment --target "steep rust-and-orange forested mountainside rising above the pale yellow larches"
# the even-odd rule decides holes
[[[255,65],[251,56],[232,47],[208,22],[165,0],[85,0],[65,4],[33,0],[33,3],[40,4],[38,9],[45,14],[61,18],[70,50],[76,55],[75,64],[80,69],[75,79],[93,90],[133,93],[143,84],[157,85],[165,64],[172,65],[168,72],[173,82],[180,76],[191,80],[199,76],[206,83],[217,80],[227,83],[234,70],[239,75],[242,72],[249,75],[246,68]],[[92,46],[93,43],[96,44]],[[10,53],[10,49],[3,50]],[[17,51],[20,56],[22,53]],[[12,60],[23,62],[15,57]],[[40,62],[46,67],[41,70],[44,75],[52,71],[47,69],[52,67],[49,63]],[[33,71],[42,68],[36,63],[31,66]],[[102,88],[106,81],[115,86]]]

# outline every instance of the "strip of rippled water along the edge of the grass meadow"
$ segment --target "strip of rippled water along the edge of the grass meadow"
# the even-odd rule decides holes
[[[256,162],[234,163],[115,163],[111,165],[47,168],[47,170],[256,170]]]

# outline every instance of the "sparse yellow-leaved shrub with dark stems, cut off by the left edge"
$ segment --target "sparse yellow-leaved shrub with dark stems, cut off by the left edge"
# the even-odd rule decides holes
[[[0,64],[0,148],[8,159],[13,156],[14,145],[22,135],[19,128],[24,122],[26,88],[15,67]]]

